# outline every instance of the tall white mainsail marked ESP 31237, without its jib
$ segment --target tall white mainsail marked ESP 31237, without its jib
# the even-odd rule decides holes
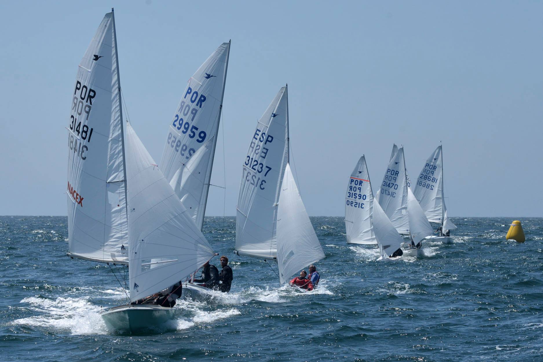
[[[236,215],[236,254],[277,256],[277,202],[288,161],[288,91],[281,88],[258,121],[243,160]]]

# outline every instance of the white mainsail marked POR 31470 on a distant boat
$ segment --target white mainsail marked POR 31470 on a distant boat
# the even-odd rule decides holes
[[[384,174],[377,201],[400,234],[409,234],[407,183],[403,147],[394,154]]]

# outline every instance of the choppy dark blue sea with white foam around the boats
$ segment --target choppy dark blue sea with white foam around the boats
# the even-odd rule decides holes
[[[274,263],[232,253],[235,218],[204,234],[234,281],[182,300],[148,333],[108,331],[100,311],[126,301],[124,269],[71,260],[66,217],[0,217],[3,360],[543,360],[543,219],[453,218],[454,243],[377,262],[346,244],[341,217],[312,217],[326,259],[313,292],[279,286]],[[217,259],[212,263],[219,264]],[[128,276],[127,276],[128,277]]]

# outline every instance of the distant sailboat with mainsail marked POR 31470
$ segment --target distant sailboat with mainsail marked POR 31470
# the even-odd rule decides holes
[[[405,243],[403,253],[418,256],[421,254],[420,242],[426,236],[432,235],[433,229],[411,188],[407,186],[406,174],[405,157],[401,147],[388,164],[378,193],[378,202],[399,234],[409,235],[411,239]]]

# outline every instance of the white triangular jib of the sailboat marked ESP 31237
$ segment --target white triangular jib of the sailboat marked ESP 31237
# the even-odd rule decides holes
[[[287,163],[277,210],[277,264],[281,284],[300,269],[322,258],[323,248]]]

